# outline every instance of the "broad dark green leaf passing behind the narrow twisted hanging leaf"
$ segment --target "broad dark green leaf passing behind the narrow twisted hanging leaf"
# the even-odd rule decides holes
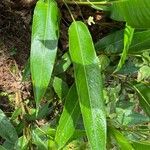
[[[116,31],[95,44],[97,51],[105,51],[105,53],[120,53],[123,50],[123,34],[124,30]],[[129,46],[129,54],[142,53],[144,50],[150,49],[150,30],[135,31],[131,45]]]

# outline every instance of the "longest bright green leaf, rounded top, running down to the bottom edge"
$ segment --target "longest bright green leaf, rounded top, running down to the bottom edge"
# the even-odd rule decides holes
[[[106,116],[98,57],[86,25],[69,28],[69,52],[86,134],[93,150],[106,149]]]

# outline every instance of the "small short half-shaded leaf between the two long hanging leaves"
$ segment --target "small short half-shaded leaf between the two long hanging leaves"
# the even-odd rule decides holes
[[[68,85],[61,78],[55,77],[53,81],[53,87],[57,93],[59,99],[63,100],[68,93]]]

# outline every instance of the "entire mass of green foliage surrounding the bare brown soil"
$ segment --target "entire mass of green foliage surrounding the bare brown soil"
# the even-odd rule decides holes
[[[26,68],[35,107],[18,107],[10,118],[0,110],[0,149],[149,150],[149,0],[63,3],[72,23],[68,50],[60,59],[61,10],[55,0],[36,3]],[[70,5],[88,5],[126,25],[94,43],[87,24],[74,19]]]

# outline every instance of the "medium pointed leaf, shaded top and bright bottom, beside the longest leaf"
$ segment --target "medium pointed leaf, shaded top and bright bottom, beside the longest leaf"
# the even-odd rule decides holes
[[[73,136],[80,115],[78,95],[75,85],[71,87],[65,100],[63,112],[56,130],[55,141],[59,149]]]

